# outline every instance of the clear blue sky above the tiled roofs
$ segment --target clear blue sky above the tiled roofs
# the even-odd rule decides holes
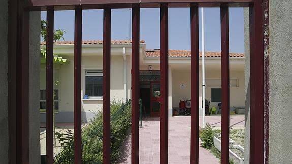
[[[201,9],[199,10],[201,50]],[[159,8],[140,10],[140,39],[147,49],[160,48]],[[46,12],[42,12],[46,19]],[[130,37],[131,10],[112,9],[111,39]],[[205,50],[220,51],[220,8],[204,8]],[[74,40],[74,11],[55,11],[55,29],[66,31],[65,40]],[[243,8],[229,8],[230,52],[244,52]],[[102,40],[103,10],[83,10],[82,40]],[[169,8],[169,49],[190,49],[190,9]]]

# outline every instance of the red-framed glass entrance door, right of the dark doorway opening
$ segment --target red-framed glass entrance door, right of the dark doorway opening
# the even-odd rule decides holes
[[[150,116],[160,116],[160,83],[151,83]]]

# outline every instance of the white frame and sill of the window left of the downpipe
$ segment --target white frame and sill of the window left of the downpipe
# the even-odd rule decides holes
[[[87,74],[87,72],[99,72],[99,73],[92,73]],[[84,69],[84,76],[83,76],[83,94],[82,94],[82,100],[103,100],[103,96],[88,96],[88,98],[84,98],[84,95],[86,94],[86,77],[87,76],[100,76],[103,77],[103,69]]]

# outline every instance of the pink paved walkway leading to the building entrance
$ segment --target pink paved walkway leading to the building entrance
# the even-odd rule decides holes
[[[220,129],[221,116],[206,116],[206,122]],[[202,119],[200,118],[200,123]],[[244,116],[231,116],[233,128],[244,128]],[[159,163],[159,117],[148,117],[140,128],[140,163]],[[124,155],[119,163],[131,163],[131,135],[122,147]],[[169,163],[190,163],[190,116],[169,118]],[[219,163],[208,150],[199,147],[199,163]]]

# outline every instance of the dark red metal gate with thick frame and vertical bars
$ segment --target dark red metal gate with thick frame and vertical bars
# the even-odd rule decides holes
[[[160,6],[161,4],[164,4]],[[195,6],[191,4],[196,4]],[[199,0],[199,1],[191,1],[191,0],[125,0],[121,3],[119,0],[71,0],[71,1],[58,1],[58,0],[11,0],[10,1],[10,7],[9,7],[9,17],[11,18],[9,20],[9,134],[11,136],[16,134],[16,137],[11,137],[9,141],[9,154],[10,154],[10,161],[11,163],[29,163],[29,133],[28,133],[28,126],[29,126],[29,106],[28,106],[28,92],[29,92],[29,11],[42,11],[50,9],[51,7],[54,8],[54,10],[75,10],[77,12],[77,16],[80,17],[80,14],[82,14],[83,9],[114,9],[114,8],[132,8],[133,7],[133,19],[132,26],[132,35],[133,42],[132,42],[132,50],[135,50],[135,52],[139,52],[139,10],[140,8],[149,8],[149,7],[160,7],[163,9],[164,12],[161,12],[161,16],[166,14],[166,9],[169,7],[190,7],[191,10],[196,11],[198,7],[220,7],[222,4],[228,5],[228,7],[249,7],[250,9],[250,163],[268,163],[268,139],[269,139],[269,57],[264,53],[264,50],[267,49],[269,46],[269,37],[266,34],[268,30],[269,25],[269,19],[264,17],[264,14],[269,14],[269,1],[268,0]],[[228,8],[227,8],[228,9]],[[264,11],[265,9],[265,11]],[[162,11],[162,10],[161,10]],[[16,12],[16,14],[14,13]],[[223,12],[223,13],[222,13]],[[221,14],[224,14],[226,12],[226,9],[224,7],[221,7]],[[105,12],[107,14],[108,12]],[[110,14],[110,11],[109,13]],[[193,16],[193,13],[192,13]],[[197,22],[196,19],[197,16],[194,14],[195,17],[191,17],[192,19],[195,19],[194,21]],[[167,19],[162,19],[161,17],[161,34],[166,34],[168,31],[167,26]],[[193,21],[193,20],[192,20]],[[78,19],[78,21],[75,24],[75,27],[78,28],[78,22],[81,22],[81,20]],[[228,21],[224,21],[225,23],[221,24],[222,26],[226,27],[226,23]],[[265,25],[264,25],[265,24]],[[105,25],[105,24],[104,24]],[[197,26],[193,22],[191,23],[191,27]],[[163,28],[164,27],[164,28]],[[51,26],[48,26],[48,31],[51,31]],[[196,31],[197,34],[197,28]],[[221,37],[225,37],[228,35],[227,33],[224,33],[222,31],[224,29],[221,29]],[[15,32],[16,31],[16,32]],[[225,31],[226,32],[226,31]],[[51,37],[52,32],[48,32],[47,36],[48,38]],[[81,27],[79,27],[77,30],[75,30],[75,36],[81,36]],[[110,36],[110,30],[104,31],[104,37]],[[195,36],[194,33],[191,33],[191,36]],[[166,65],[167,59],[168,59],[168,40],[167,35],[161,35],[161,82],[165,82],[166,85],[168,85],[168,78],[165,79],[168,76],[168,68]],[[78,53],[81,53],[81,37],[75,38],[78,42],[75,43],[75,46],[78,46]],[[222,38],[223,39],[223,38]],[[265,40],[264,40],[265,39]],[[191,38],[191,47],[192,47],[192,63],[197,64],[196,59],[196,53],[197,47],[193,47],[194,43],[197,42],[197,37]],[[110,41],[106,40],[107,42],[104,42],[104,47],[107,47],[106,50],[108,50],[108,47],[110,47]],[[53,47],[52,42],[48,42],[48,47]],[[196,45],[197,46],[197,45]],[[229,49],[228,43],[221,41],[221,47],[222,47],[222,58],[223,55],[226,57],[226,61],[228,61],[228,54],[227,50]],[[227,48],[227,49],[226,49]],[[77,51],[76,49],[76,51]],[[79,50],[80,49],[80,50]],[[77,52],[76,52],[77,53]],[[104,53],[105,54],[105,53]],[[107,52],[109,54],[109,52]],[[135,55],[136,56],[136,55]],[[195,56],[195,58],[193,58]],[[139,61],[139,56],[135,58],[135,61]],[[103,61],[106,62],[108,65],[106,66],[106,70],[108,70],[108,67],[110,65],[109,57],[104,57]],[[224,60],[225,61],[225,60]],[[133,60],[132,60],[133,62]],[[81,63],[81,61],[80,61]],[[80,68],[79,63],[76,63],[77,68]],[[191,67],[191,74],[192,79],[197,78],[197,74],[199,74],[199,70],[196,70],[198,65],[194,65],[196,67]],[[223,71],[226,73],[229,69],[226,68],[227,65],[222,64],[222,68],[224,67]],[[136,68],[135,70],[132,70],[132,96],[133,95],[139,95],[139,90],[137,89],[137,85],[139,85],[139,81],[137,80],[137,68],[139,71],[139,62],[132,65],[132,68]],[[104,71],[106,71],[104,70]],[[50,73],[49,73],[50,74]],[[79,71],[76,72],[76,78],[79,77]],[[164,75],[164,76],[162,76]],[[109,76],[109,74],[108,74]],[[77,80],[77,79],[76,79]],[[199,99],[197,94],[198,89],[198,83],[193,82],[192,80],[192,87],[191,91],[195,92],[196,94],[192,94],[192,100],[193,97],[197,97]],[[227,74],[222,74],[222,83],[226,84],[225,81],[228,80]],[[108,84],[110,81],[110,78],[105,78],[104,82],[107,82]],[[133,83],[134,82],[134,83]],[[80,92],[81,87],[79,86],[81,83],[78,81],[77,83],[74,83],[74,90],[76,93],[76,99],[74,100],[74,120],[76,121],[74,125],[75,129],[75,147],[77,149],[81,150],[81,115],[80,111],[77,109],[80,109],[81,104],[78,100],[78,93]],[[134,87],[133,87],[134,86]],[[193,87],[196,86],[196,87]],[[222,85],[223,86],[223,85]],[[15,89],[16,88],[16,89]],[[136,88],[136,91],[135,91]],[[228,91],[228,86],[222,90],[222,95],[226,95]],[[105,89],[107,91],[104,92],[105,97],[109,97],[109,87]],[[160,154],[160,162],[161,163],[168,163],[168,113],[166,112],[168,110],[168,89],[162,88],[161,89],[162,97],[161,99],[165,99],[164,103],[161,103],[161,106],[164,108],[161,108],[161,142],[160,142],[160,148],[162,149],[162,153]],[[13,97],[16,97],[18,102],[16,104],[16,99],[13,99]],[[139,104],[139,99],[133,99],[134,102],[132,102],[132,107],[136,107],[135,104]],[[80,98],[81,99],[81,98]],[[109,98],[108,98],[109,99]],[[105,100],[104,105],[105,109],[109,109],[109,101]],[[195,99],[195,100],[197,100]],[[20,102],[19,102],[20,101]],[[138,102],[138,103],[137,103]],[[229,103],[229,100],[225,100],[225,103]],[[264,106],[265,103],[265,106]],[[14,105],[16,104],[16,106]],[[192,109],[195,113],[192,114],[191,120],[194,121],[194,118],[197,118],[199,113],[199,107],[197,107],[198,103],[196,104],[196,109]],[[223,108],[223,106],[222,106]],[[138,108],[137,108],[138,109]],[[163,112],[165,111],[165,112]],[[226,123],[229,121],[229,113],[227,113],[227,109],[222,109],[222,123],[224,122],[224,126],[222,126],[222,152],[225,152],[228,150],[228,142],[225,142],[226,138],[229,138],[229,130],[226,128],[228,127]],[[105,116],[108,116],[109,111],[105,110],[104,113]],[[52,113],[51,110],[47,111],[47,114]],[[136,116],[136,113],[139,113],[135,110],[135,108],[132,108],[132,121],[134,118],[134,122],[132,124],[132,133],[134,134],[132,136],[132,163],[139,163],[139,120],[138,116]],[[192,112],[193,113],[193,112]],[[134,115],[133,115],[134,114]],[[137,117],[137,118],[136,118]],[[49,118],[50,122],[47,122],[47,125],[51,125],[51,117],[47,116]],[[108,117],[107,117],[108,118]],[[227,121],[227,122],[226,122]],[[109,141],[109,125],[107,123],[109,120],[104,120],[104,133],[106,133],[104,141]],[[79,125],[80,124],[80,125]],[[191,123],[191,140],[198,140],[198,127],[196,126],[198,122],[192,122]],[[80,127],[79,127],[80,126]],[[137,127],[136,127],[137,126]],[[195,127],[194,127],[195,126]],[[199,126],[199,124],[198,124]],[[225,127],[226,126],[226,127]],[[47,135],[52,135],[52,130],[48,131]],[[137,137],[138,135],[138,137]],[[48,137],[47,140],[52,140],[51,137]],[[227,141],[227,140],[226,140]],[[48,143],[51,143],[51,141],[47,141]],[[105,142],[104,147],[109,147],[110,142]],[[196,149],[191,149],[191,163],[198,163],[198,151],[197,151],[197,142],[191,142],[191,145],[195,145]],[[48,146],[48,145],[47,145]],[[51,147],[53,145],[50,145]],[[48,150],[51,150],[50,147],[47,148]],[[75,163],[81,163],[81,151],[75,151],[77,153],[75,155]],[[110,160],[110,151],[104,151],[104,160],[109,161]],[[16,158],[14,157],[16,155]],[[48,156],[50,158],[48,163],[51,163],[52,156]],[[134,160],[133,160],[134,159]],[[228,159],[227,153],[222,153],[221,161],[222,163],[226,163],[226,160]]]

